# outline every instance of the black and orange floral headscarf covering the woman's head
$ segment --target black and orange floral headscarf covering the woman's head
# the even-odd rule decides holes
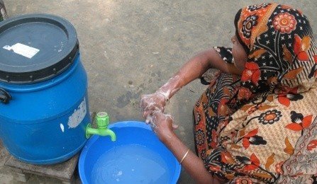
[[[238,101],[269,93],[297,93],[315,84],[317,63],[313,31],[298,9],[260,4],[235,16],[238,40],[248,53]],[[250,92],[252,95],[250,95]]]

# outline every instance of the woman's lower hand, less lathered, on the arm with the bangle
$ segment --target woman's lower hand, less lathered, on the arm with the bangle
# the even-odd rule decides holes
[[[172,137],[174,129],[177,129],[177,125],[174,125],[172,115],[165,115],[160,111],[154,111],[150,117],[150,123],[152,130],[157,134],[157,137],[165,142]]]

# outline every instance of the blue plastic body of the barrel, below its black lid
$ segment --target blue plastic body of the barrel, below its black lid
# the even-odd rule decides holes
[[[38,84],[0,82],[12,100],[0,105],[0,134],[6,149],[21,161],[66,161],[86,143],[90,122],[87,74],[79,54],[72,67]]]

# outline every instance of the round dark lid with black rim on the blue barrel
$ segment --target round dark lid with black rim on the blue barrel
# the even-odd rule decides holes
[[[74,26],[48,14],[30,14],[0,23],[0,81],[43,81],[65,71],[79,52]]]

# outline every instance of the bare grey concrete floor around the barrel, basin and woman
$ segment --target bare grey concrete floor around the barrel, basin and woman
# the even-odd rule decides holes
[[[233,18],[240,7],[262,1],[210,0],[4,0],[9,16],[52,13],[77,29],[89,76],[89,106],[106,111],[111,122],[141,120],[138,100],[165,84],[195,53],[230,46]],[[317,1],[279,1],[301,8],[317,31]],[[316,32],[315,32],[316,33]],[[198,80],[182,88],[166,112],[177,134],[194,151],[191,110],[204,91]],[[0,183],[16,183],[1,168]],[[58,183],[31,177],[28,183]],[[179,183],[193,183],[182,171]]]

